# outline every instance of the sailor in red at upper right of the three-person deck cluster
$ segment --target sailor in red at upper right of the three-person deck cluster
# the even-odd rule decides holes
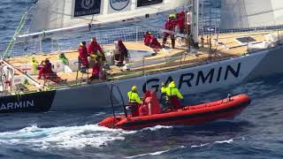
[[[96,41],[96,37],[93,37],[91,42],[88,43],[88,55],[93,58],[99,57],[103,62],[106,61],[104,51]]]

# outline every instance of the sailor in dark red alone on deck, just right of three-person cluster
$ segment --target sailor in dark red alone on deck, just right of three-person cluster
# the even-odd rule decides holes
[[[119,39],[117,43],[115,43],[115,50],[114,50],[114,57],[115,57],[115,64],[117,66],[122,66],[126,64],[126,59],[128,57],[128,50],[124,45],[123,41]]]

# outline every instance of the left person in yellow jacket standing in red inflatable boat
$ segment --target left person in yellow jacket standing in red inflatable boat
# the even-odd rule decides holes
[[[142,104],[142,99],[137,93],[137,87],[133,86],[132,90],[127,93],[130,103],[130,110],[132,113],[132,117],[139,116],[139,107]]]

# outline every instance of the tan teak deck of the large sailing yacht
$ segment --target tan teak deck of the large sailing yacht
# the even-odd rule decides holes
[[[187,53],[187,48],[176,47],[176,49],[160,49],[157,51],[156,56],[145,57],[145,62],[150,61],[157,61],[161,60],[160,63],[157,64],[149,64],[145,66],[136,67],[129,71],[122,71],[118,66],[112,65],[111,71],[109,72],[108,80],[116,80],[116,79],[128,79],[133,77],[142,76],[143,73],[146,74],[153,74],[157,72],[168,72],[174,69],[178,69],[180,67],[192,67],[197,64],[204,64],[207,63],[209,60],[224,60],[230,57],[240,57],[242,54],[247,53],[247,45],[241,44],[240,42],[235,41],[236,37],[243,37],[243,36],[250,36],[256,40],[256,42],[264,42],[264,35],[270,34],[271,32],[261,32],[261,33],[243,33],[243,34],[219,34],[218,35],[218,43],[226,44],[220,46],[216,44],[216,41],[211,38],[212,49],[217,48],[217,53],[210,54],[210,49],[208,49],[208,38],[209,36],[204,36],[204,47],[202,49],[196,49],[196,54]],[[169,38],[168,38],[169,40]],[[169,40],[170,42],[170,40]],[[176,42],[177,43],[177,42]],[[152,51],[151,48],[145,46],[143,42],[125,42],[127,49],[139,49],[139,50],[148,50]],[[200,42],[201,46],[201,42]],[[113,45],[104,45],[103,49],[114,49]],[[45,58],[49,58],[50,62],[58,60],[58,53],[50,53],[50,54],[39,54],[34,55],[37,61],[42,61]],[[78,52],[77,50],[67,51],[65,52],[65,57],[70,59],[77,59]],[[174,58],[175,57],[175,58]],[[181,59],[180,59],[181,58]],[[168,59],[167,61],[162,61],[162,59]],[[8,63],[12,65],[19,65],[19,64],[29,64],[31,62],[31,57],[11,57],[6,60]],[[142,63],[142,61],[141,61]],[[57,75],[60,76],[62,79],[67,79],[67,82],[63,85],[75,85],[75,84],[82,84],[86,83],[85,80],[91,76],[91,68],[89,69],[89,74],[81,74],[79,72],[78,79],[77,72],[72,73],[65,73],[65,72],[58,72]],[[20,72],[16,72],[19,73]],[[37,76],[33,76],[34,79],[37,79]],[[43,84],[44,81],[38,80],[40,84]],[[99,80],[95,80],[93,82],[99,82]],[[48,83],[50,87],[62,87],[62,85],[55,84],[53,82]],[[28,86],[30,91],[34,91],[37,88],[34,86]]]

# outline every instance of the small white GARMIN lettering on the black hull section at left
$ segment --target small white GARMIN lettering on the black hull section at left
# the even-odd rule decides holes
[[[0,110],[18,110],[23,108],[34,107],[34,100],[32,101],[21,101],[21,102],[7,102],[1,103]]]

